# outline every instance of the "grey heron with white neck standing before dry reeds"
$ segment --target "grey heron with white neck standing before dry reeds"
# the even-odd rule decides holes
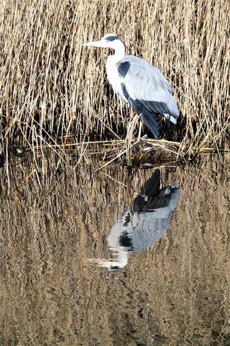
[[[84,46],[114,50],[106,61],[108,82],[156,139],[160,132],[159,115],[176,123],[179,111],[173,98],[174,90],[156,68],[136,56],[125,55],[127,47],[113,34],[106,34],[100,41],[88,42]]]

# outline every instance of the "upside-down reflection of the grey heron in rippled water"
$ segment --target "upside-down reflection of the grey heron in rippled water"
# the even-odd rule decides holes
[[[112,258],[89,261],[110,270],[125,267],[128,251],[149,248],[166,232],[178,200],[175,184],[160,189],[160,170],[155,169],[131,208],[111,227],[108,247]]]

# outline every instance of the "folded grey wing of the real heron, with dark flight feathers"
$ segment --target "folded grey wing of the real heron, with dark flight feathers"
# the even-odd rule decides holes
[[[124,99],[158,138],[158,115],[173,123],[178,117],[172,87],[153,66],[140,58],[127,55],[119,61],[117,68]]]

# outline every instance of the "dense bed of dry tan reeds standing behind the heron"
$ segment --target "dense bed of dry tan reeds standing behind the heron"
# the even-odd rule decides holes
[[[108,88],[108,52],[81,47],[107,32],[171,81],[181,117],[170,132],[162,124],[162,136],[182,147],[221,147],[229,125],[229,28],[224,0],[1,2],[1,149],[42,148],[57,135],[64,143],[65,135],[78,143],[125,137],[132,111]]]

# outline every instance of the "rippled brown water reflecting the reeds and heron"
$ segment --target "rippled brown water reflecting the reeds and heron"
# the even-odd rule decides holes
[[[228,155],[20,186],[29,164],[1,171],[0,344],[230,344]]]

